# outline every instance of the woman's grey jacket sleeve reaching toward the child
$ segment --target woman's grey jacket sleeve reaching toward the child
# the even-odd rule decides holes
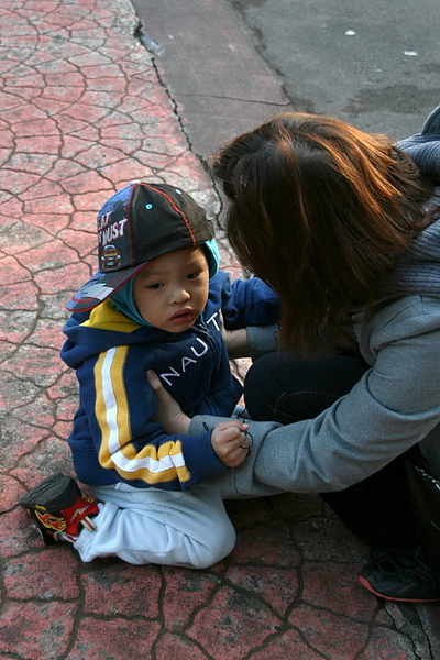
[[[342,491],[419,442],[440,471],[439,299],[400,298],[372,315],[362,334],[372,367],[312,419],[251,421],[249,458],[211,482],[223,497]],[[212,421],[196,416],[190,430]]]

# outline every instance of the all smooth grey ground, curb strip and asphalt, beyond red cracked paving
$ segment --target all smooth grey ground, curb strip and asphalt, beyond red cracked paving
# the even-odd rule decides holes
[[[439,0],[132,0],[200,156],[284,109],[393,139],[440,103]]]

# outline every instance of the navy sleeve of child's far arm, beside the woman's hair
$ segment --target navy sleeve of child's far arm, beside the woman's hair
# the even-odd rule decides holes
[[[210,286],[220,297],[224,326],[229,330],[278,322],[278,296],[258,277],[231,283],[229,275],[220,272]]]

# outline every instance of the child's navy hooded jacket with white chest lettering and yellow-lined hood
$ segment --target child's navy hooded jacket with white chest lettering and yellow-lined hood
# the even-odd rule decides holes
[[[212,429],[168,436],[152,421],[157,399],[146,377],[148,369],[155,371],[190,417],[230,416],[242,388],[231,374],[220,311],[226,328],[234,330],[276,322],[279,304],[258,278],[231,284],[220,272],[200,318],[180,333],[140,326],[110,300],[90,315],[72,315],[62,359],[79,381],[69,444],[81,482],[186,491],[226,470],[211,447]]]

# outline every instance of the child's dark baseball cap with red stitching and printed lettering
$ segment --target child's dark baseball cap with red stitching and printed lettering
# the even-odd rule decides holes
[[[205,209],[187,193],[143,182],[132,182],[106,201],[97,231],[99,271],[67,302],[70,311],[94,309],[150,261],[210,245],[215,235]]]

